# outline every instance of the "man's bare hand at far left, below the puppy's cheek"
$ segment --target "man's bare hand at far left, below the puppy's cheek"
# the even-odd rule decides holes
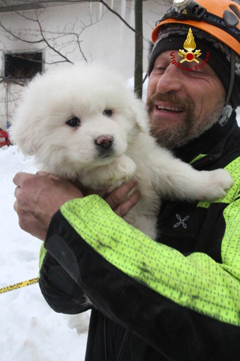
[[[62,204],[81,198],[83,193],[70,181],[44,172],[17,173],[13,178],[19,226],[31,235],[44,240],[51,218]]]

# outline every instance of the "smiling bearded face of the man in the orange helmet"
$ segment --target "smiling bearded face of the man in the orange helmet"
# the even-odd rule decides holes
[[[172,64],[171,52],[157,57],[147,90],[151,134],[169,149],[212,127],[225,102],[223,84],[208,64],[197,71],[183,71]],[[176,61],[180,59],[176,54]]]

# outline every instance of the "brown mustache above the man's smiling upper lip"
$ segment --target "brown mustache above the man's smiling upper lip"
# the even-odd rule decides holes
[[[156,94],[153,94],[148,97],[147,103],[146,103],[146,108],[147,108],[148,114],[154,108],[156,101],[166,101],[169,103],[174,103],[174,106],[176,108],[184,108],[188,112],[194,111],[194,103],[189,96],[187,96],[187,98],[185,98],[185,99],[182,99],[178,95],[176,95],[175,93],[170,91],[170,92],[164,93],[164,94],[156,93]]]

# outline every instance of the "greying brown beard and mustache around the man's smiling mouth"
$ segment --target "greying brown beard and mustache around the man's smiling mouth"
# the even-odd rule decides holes
[[[176,108],[184,108],[187,113],[185,119],[177,125],[166,127],[166,120],[161,121],[157,117],[151,116],[156,101],[166,101],[173,103]],[[206,114],[201,122],[197,123],[194,103],[190,97],[181,99],[172,91],[165,94],[158,93],[152,95],[148,97],[146,103],[147,112],[150,115],[150,133],[156,138],[157,143],[163,147],[168,149],[180,147],[190,142],[190,140],[198,138],[218,121],[224,102],[224,98],[220,99],[213,111]]]

